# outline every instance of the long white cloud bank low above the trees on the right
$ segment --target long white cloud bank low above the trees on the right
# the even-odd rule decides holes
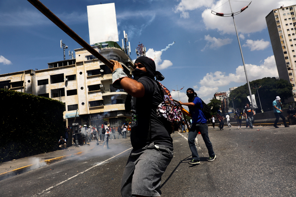
[[[264,77],[278,77],[278,70],[275,64],[274,55],[266,58],[264,63],[260,66],[253,64],[246,64],[249,81],[262,79]],[[214,73],[207,73],[206,76],[200,80],[201,87],[194,86],[195,92],[201,97],[205,103],[208,103],[215,92],[218,92],[219,87],[228,86],[231,82],[246,83],[246,75],[243,66],[236,68],[236,73],[223,73],[216,71]],[[229,87],[227,87],[228,89]],[[208,97],[208,99],[206,99]],[[207,101],[207,102],[206,102]]]

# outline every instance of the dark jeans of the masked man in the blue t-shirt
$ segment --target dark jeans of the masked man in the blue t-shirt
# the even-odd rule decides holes
[[[210,142],[210,138],[208,134],[208,125],[206,123],[201,123],[201,124],[192,123],[192,127],[189,129],[189,133],[188,133],[188,144],[192,153],[192,159],[199,161],[199,155],[197,152],[197,148],[195,146],[195,138],[198,132],[201,133],[201,137],[204,140],[204,143],[208,149],[209,156],[214,157],[215,153],[213,151],[212,143]]]

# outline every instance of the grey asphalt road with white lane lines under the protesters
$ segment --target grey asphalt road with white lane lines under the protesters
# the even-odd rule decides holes
[[[295,196],[295,128],[210,127],[217,159],[206,160],[208,151],[198,135],[201,164],[195,166],[188,164],[187,133],[172,134],[174,158],[162,176],[162,196]],[[112,140],[109,147],[2,180],[0,196],[121,196],[131,145],[128,139]]]

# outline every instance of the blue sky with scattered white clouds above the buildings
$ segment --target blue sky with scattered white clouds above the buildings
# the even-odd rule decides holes
[[[211,14],[211,10],[231,13],[227,0],[41,2],[86,42],[89,42],[86,6],[114,2],[118,44],[121,45],[125,30],[131,58],[136,59],[135,48],[139,42],[143,43],[147,56],[156,61],[165,77],[163,84],[168,89],[185,86],[180,92],[183,102],[187,100],[185,92],[189,87],[207,103],[215,92],[246,83],[232,17]],[[235,16],[250,81],[278,77],[265,16],[281,5],[293,4],[291,0],[254,0]],[[231,5],[236,12],[248,3],[231,1]],[[71,51],[81,48],[27,1],[0,0],[0,37],[0,74],[46,69],[47,63],[63,60],[60,39]],[[177,92],[172,95],[178,99]]]

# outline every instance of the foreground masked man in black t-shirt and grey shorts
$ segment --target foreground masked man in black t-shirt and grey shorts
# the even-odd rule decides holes
[[[122,176],[121,195],[160,196],[161,176],[173,157],[169,134],[172,128],[156,115],[157,106],[163,102],[156,80],[164,77],[156,71],[154,61],[145,56],[135,61],[134,79],[127,77],[121,64],[110,61],[114,64],[113,86],[128,93],[125,109],[133,115],[130,132],[133,150]]]

